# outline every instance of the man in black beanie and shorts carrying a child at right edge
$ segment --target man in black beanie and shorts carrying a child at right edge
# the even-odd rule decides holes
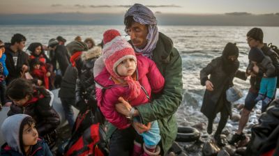
[[[257,47],[262,49],[264,55],[269,56],[273,66],[275,67],[275,72],[270,77],[278,77],[279,75],[279,56],[276,52],[273,52],[272,49],[267,47],[267,45],[263,42],[264,33],[260,28],[252,28],[247,33],[247,42],[250,48]],[[251,63],[251,62],[250,62]],[[248,65],[250,67],[251,65]],[[259,84],[261,83],[262,77],[264,75],[264,71],[260,70],[257,66],[254,66],[251,71],[246,70],[246,75],[251,75],[250,77],[250,88],[248,94],[246,96],[245,105],[243,110],[241,111],[241,118],[239,120],[239,129],[233,135],[232,139],[229,141],[229,144],[234,145],[235,143],[246,139],[246,136],[243,134],[243,129],[248,123],[250,112],[252,108],[255,107],[257,101],[258,92],[259,92]],[[276,95],[276,93],[274,94]],[[273,97],[274,98],[274,97]],[[267,104],[268,107],[269,104]]]

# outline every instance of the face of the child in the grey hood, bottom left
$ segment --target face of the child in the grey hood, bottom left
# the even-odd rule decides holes
[[[35,125],[26,124],[23,127],[22,132],[22,141],[24,146],[33,146],[37,143],[38,140],[38,131],[35,128]]]

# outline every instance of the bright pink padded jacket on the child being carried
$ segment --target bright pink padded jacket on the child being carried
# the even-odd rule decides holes
[[[151,91],[152,93],[158,93],[165,84],[165,79],[156,64],[151,59],[146,58],[146,56],[137,56],[136,72],[137,81],[140,81],[142,90],[135,100],[129,101],[133,107],[149,102],[151,100]],[[130,120],[126,116],[119,114],[114,107],[115,104],[119,103],[119,97],[126,97],[128,86],[115,84],[106,68],[95,77],[95,81],[98,107],[100,107],[105,118],[119,129],[129,127],[131,124]]]

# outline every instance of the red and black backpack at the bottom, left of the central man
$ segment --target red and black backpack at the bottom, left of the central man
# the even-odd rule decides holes
[[[72,137],[64,150],[66,156],[108,155],[103,114],[98,107],[95,110],[80,111],[75,120]]]

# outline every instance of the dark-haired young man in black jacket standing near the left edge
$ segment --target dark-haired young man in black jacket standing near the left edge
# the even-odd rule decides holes
[[[25,47],[26,38],[20,34],[16,33],[10,43],[6,43],[6,67],[9,71],[9,75],[6,78],[7,85],[13,79],[22,77],[24,72],[27,72],[29,69],[28,54],[23,52]]]

